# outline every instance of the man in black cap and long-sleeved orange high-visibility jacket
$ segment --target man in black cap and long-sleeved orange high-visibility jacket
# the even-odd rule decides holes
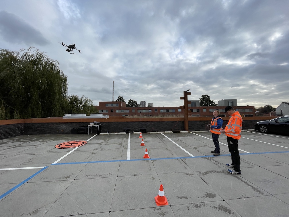
[[[232,163],[226,163],[226,166],[233,167],[233,170],[228,169],[231,174],[241,174],[240,169],[240,154],[238,150],[238,140],[241,138],[241,130],[243,119],[238,111],[231,106],[225,108],[225,114],[227,113],[230,117],[227,126],[220,130],[221,133],[225,133],[227,136],[228,148],[231,153]]]

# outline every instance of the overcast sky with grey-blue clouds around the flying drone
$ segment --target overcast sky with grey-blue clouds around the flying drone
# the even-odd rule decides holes
[[[36,47],[60,63],[68,95],[154,106],[289,102],[289,1],[1,1],[0,49]],[[81,54],[65,51],[74,44]]]

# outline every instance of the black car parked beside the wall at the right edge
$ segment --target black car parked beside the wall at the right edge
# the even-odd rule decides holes
[[[268,121],[259,121],[255,124],[255,128],[261,133],[289,134],[289,115],[275,117]]]

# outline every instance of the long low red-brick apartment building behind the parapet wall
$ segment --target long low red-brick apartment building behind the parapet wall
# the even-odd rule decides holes
[[[192,101],[192,102],[191,102]],[[188,101],[188,110],[191,112],[191,117],[212,117],[215,110],[219,110],[220,115],[226,117],[224,106],[198,106],[197,100]],[[233,102],[232,100],[229,101]],[[109,117],[126,117],[126,116],[140,116],[140,117],[156,117],[166,115],[184,115],[184,109],[179,107],[125,107],[125,102],[99,102],[96,106],[99,113],[109,115]],[[193,106],[192,106],[193,105]],[[195,106],[196,105],[196,106]],[[253,117],[255,114],[255,106],[234,106],[243,117]],[[237,105],[237,102],[235,102]],[[228,116],[228,115],[227,115]]]

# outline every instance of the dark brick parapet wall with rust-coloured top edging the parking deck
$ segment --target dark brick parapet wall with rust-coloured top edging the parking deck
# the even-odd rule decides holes
[[[271,117],[269,117],[271,119]],[[228,123],[229,117],[225,117],[223,127]],[[254,124],[266,118],[244,118],[243,130],[254,129]],[[70,134],[71,129],[87,127],[93,121],[101,123],[101,133],[119,133],[124,129],[130,132],[139,132],[146,129],[146,132],[179,132],[184,130],[184,118],[109,118],[109,119],[19,119],[0,120],[0,139],[6,139],[19,135],[33,134]],[[189,131],[208,130],[210,117],[189,118]],[[97,128],[92,127],[92,133],[96,133]]]

